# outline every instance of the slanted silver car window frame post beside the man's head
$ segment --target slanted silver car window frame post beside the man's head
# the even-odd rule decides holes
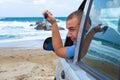
[[[76,64],[77,62],[80,61],[81,59],[81,50],[82,50],[82,45],[83,45],[83,40],[84,40],[84,35],[85,35],[85,29],[86,29],[86,24],[87,24],[87,20],[89,17],[89,13],[91,10],[91,6],[92,6],[93,0],[87,0],[85,3],[85,8],[83,10],[83,15],[82,15],[82,19],[81,19],[81,24],[80,24],[80,28],[79,28],[79,32],[78,32],[78,36],[77,36],[77,43],[76,43],[76,47],[75,47],[75,55],[73,58],[73,63]],[[81,35],[82,34],[82,35]]]

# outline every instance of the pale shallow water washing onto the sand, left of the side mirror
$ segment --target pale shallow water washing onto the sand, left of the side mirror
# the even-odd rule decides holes
[[[42,48],[44,39],[0,42],[0,48]]]

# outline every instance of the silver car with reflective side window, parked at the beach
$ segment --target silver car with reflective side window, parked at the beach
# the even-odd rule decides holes
[[[108,29],[95,34],[81,58],[89,16],[91,28],[102,23]],[[59,58],[55,80],[120,80],[120,0],[86,0],[81,21],[75,55],[71,59]]]

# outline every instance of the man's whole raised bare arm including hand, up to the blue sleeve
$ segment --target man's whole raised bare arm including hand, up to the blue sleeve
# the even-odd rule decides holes
[[[48,14],[47,21],[50,22],[52,25],[52,43],[53,43],[55,53],[59,57],[67,58],[66,57],[66,47],[63,47],[62,39],[61,39],[61,36],[59,33],[57,22],[49,11],[44,11],[43,14],[45,14],[45,13]]]

